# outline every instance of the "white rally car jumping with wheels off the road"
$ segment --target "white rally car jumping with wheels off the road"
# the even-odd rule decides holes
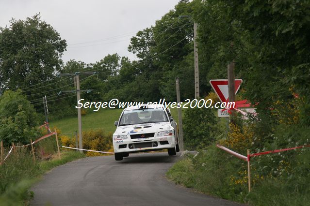
[[[162,104],[142,104],[124,109],[113,134],[115,160],[129,153],[168,149],[169,155],[179,152],[177,123],[170,109]]]

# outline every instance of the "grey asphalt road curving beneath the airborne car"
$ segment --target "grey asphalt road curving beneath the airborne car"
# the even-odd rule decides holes
[[[167,153],[88,157],[56,167],[33,186],[33,206],[228,206],[233,202],[175,185],[164,177],[179,159]]]

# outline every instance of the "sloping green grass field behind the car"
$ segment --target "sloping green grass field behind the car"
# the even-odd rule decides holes
[[[178,122],[177,108],[170,108],[173,118]],[[123,109],[100,109],[98,112],[88,111],[82,116],[82,131],[103,129],[105,132],[114,132],[114,121],[119,119]],[[183,109],[184,111],[184,109]],[[184,116],[184,112],[182,113]],[[50,127],[57,127],[61,134],[73,134],[78,131],[78,118],[69,117],[49,122]]]

